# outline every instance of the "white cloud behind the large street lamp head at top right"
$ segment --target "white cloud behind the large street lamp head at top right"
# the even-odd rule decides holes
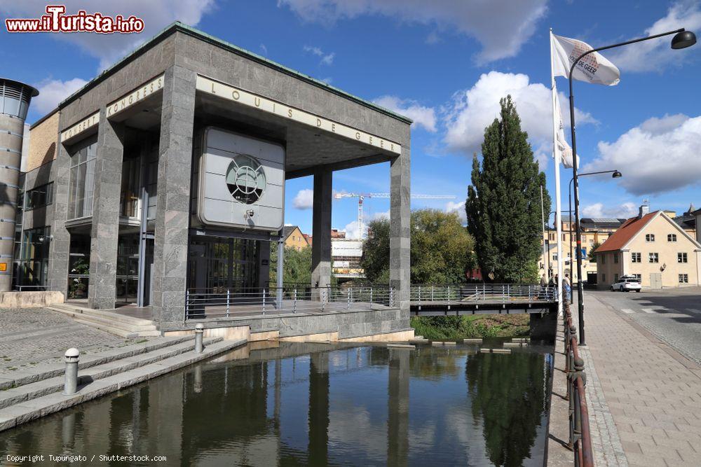
[[[686,27],[690,31],[701,29],[701,6],[698,1],[679,1],[660,18],[645,29],[643,36],[674,31]],[[698,46],[685,50],[671,50],[669,42],[673,36],[643,41],[634,46],[622,47],[611,53],[611,62],[624,71],[661,71],[670,66],[679,67],[691,54],[698,54]]]

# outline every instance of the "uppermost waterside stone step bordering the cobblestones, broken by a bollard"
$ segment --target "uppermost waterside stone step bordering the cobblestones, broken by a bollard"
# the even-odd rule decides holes
[[[106,351],[101,351],[96,354],[83,355],[78,363],[79,370],[91,368],[93,366],[102,365],[111,361],[127,358],[130,356],[144,354],[149,351],[162,349],[170,345],[179,344],[193,340],[191,335],[179,337],[156,337],[155,339],[144,340],[144,342],[135,342],[123,347],[116,347]],[[48,379],[55,376],[63,375],[65,370],[64,363],[44,363],[37,365],[27,370],[17,370],[11,373],[0,375],[0,391],[11,389],[13,387],[22,386],[42,379]]]

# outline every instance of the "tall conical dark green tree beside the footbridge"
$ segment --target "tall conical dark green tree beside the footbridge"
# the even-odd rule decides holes
[[[477,263],[494,281],[536,281],[543,210],[550,211],[545,174],[540,172],[528,134],[511,96],[501,99],[499,118],[484,130],[482,165],[472,160],[472,185],[465,212],[475,237]]]

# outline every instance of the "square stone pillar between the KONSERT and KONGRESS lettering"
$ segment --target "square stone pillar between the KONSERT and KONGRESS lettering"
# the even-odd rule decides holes
[[[93,225],[90,229],[90,308],[114,308],[123,143],[123,123],[110,122],[105,109],[101,109],[95,151]]]

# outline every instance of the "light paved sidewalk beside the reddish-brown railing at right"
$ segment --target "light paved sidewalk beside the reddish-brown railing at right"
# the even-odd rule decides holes
[[[599,431],[607,426],[609,412],[630,466],[700,465],[699,365],[609,305],[606,295],[586,293],[585,305],[588,355],[583,358],[593,365],[586,368],[593,377],[587,398],[594,418],[604,420],[603,425],[597,421]],[[590,396],[599,390],[608,411],[595,394]],[[615,449],[613,454],[618,460]]]

